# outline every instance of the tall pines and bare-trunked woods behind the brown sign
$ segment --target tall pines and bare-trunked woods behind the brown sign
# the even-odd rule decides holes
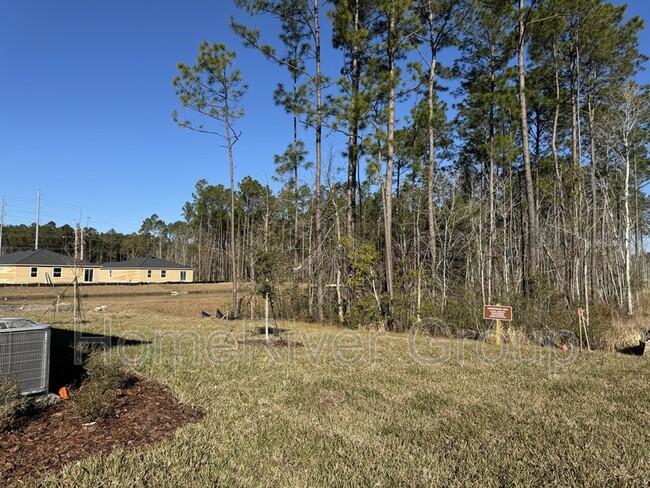
[[[288,295],[291,313],[393,330],[469,320],[497,301],[520,304],[523,321],[634,312],[648,275],[650,112],[634,82],[643,23],[625,20],[624,6],[235,3],[243,48],[286,70],[274,95],[288,116],[277,189],[235,185],[244,76],[235,51],[204,42],[195,64],[178,65],[173,116],[221,138],[230,188],[199,181],[183,222],[152,216],[124,236],[120,257],[139,240],[140,254],[232,281],[233,309],[245,280]],[[277,38],[249,26],[260,16]],[[323,72],[324,42],[343,55],[340,75]]]

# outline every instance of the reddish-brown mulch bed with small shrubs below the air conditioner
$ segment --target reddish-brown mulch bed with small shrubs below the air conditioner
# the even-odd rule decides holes
[[[60,469],[92,454],[146,446],[171,437],[203,412],[178,403],[168,388],[139,380],[119,392],[115,414],[84,426],[71,401],[38,410],[0,433],[0,486]]]

